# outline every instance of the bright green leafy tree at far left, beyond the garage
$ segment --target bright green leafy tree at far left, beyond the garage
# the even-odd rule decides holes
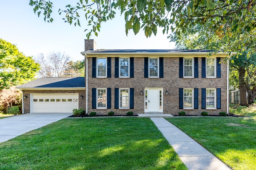
[[[32,57],[26,57],[16,45],[0,39],[0,91],[33,80],[39,69]]]

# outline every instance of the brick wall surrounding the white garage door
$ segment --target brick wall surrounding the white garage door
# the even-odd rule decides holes
[[[79,96],[84,96],[82,99],[78,98],[78,108],[86,109],[86,92],[85,90],[23,90],[23,96],[28,98],[24,101],[24,113],[30,113],[30,94],[72,94],[78,93]]]

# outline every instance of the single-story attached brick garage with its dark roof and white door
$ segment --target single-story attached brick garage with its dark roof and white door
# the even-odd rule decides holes
[[[42,77],[17,86],[22,113],[72,113],[86,109],[84,77]]]

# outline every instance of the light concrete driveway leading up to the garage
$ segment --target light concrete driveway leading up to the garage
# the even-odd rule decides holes
[[[0,143],[70,115],[72,113],[27,113],[0,119]]]

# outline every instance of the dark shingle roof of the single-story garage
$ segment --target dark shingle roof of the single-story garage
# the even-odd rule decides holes
[[[84,77],[41,77],[16,88],[85,88]]]

